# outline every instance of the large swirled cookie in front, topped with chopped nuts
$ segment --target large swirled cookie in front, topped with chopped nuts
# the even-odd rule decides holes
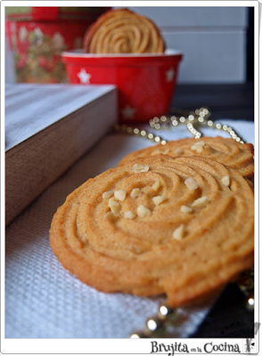
[[[166,293],[176,307],[253,263],[254,197],[231,167],[200,157],[137,159],[89,179],[53,216],[64,268],[103,292]]]

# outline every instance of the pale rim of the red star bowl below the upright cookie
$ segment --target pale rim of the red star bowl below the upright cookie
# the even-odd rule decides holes
[[[65,51],[61,53],[62,57],[71,58],[161,58],[161,57],[171,57],[171,56],[181,56],[183,53],[178,50],[167,49],[165,53],[104,53],[104,54],[94,54],[94,53],[83,53],[83,49]]]

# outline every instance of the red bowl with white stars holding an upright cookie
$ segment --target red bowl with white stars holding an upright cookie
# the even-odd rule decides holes
[[[168,113],[182,53],[61,53],[71,84],[112,84],[119,89],[119,122],[137,123]]]

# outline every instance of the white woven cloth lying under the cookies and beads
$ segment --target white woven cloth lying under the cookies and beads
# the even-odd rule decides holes
[[[219,122],[231,125],[245,141],[254,142],[253,123]],[[167,140],[191,137],[184,125],[157,133]],[[220,134],[212,129],[203,133]],[[116,166],[130,151],[150,144],[140,137],[107,135],[7,227],[6,338],[124,338],[134,329],[142,329],[145,320],[157,312],[164,295],[147,298],[104,294],[78,281],[61,267],[48,237],[53,214],[72,190]],[[210,305],[180,310],[174,337],[190,336]]]

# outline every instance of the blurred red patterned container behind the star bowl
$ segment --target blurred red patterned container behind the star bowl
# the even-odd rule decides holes
[[[88,28],[110,7],[6,7],[16,82],[66,83],[61,52],[82,48]]]

